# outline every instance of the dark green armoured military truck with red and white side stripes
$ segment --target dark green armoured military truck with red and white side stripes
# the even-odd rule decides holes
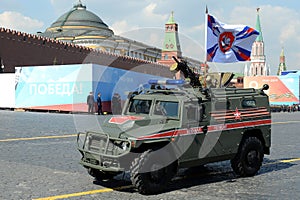
[[[139,193],[155,194],[179,168],[231,160],[238,176],[259,171],[271,146],[268,85],[227,87],[231,73],[204,79],[175,60],[171,69],[185,80],[150,80],[149,89],[130,93],[122,115],[78,134],[80,163],[97,180],[129,173]]]

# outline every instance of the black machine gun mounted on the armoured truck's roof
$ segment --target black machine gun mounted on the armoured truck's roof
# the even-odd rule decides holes
[[[199,80],[199,75],[195,74],[191,70],[191,68],[189,68],[186,61],[179,61],[176,59],[175,56],[173,56],[173,59],[176,61],[176,63],[170,67],[170,70],[171,71],[181,71],[183,73],[184,78],[190,79],[190,85],[192,87],[199,87],[200,91],[201,91],[202,84]]]

